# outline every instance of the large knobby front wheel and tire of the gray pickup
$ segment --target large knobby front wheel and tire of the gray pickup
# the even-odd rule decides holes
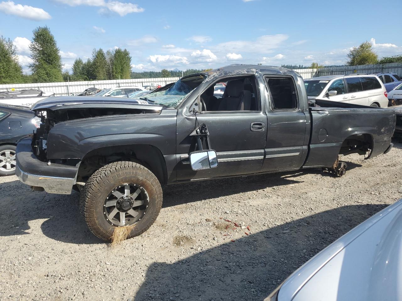
[[[134,225],[128,238],[144,233],[162,207],[162,187],[146,167],[128,161],[95,171],[81,191],[80,207],[90,231],[110,240],[117,227]]]

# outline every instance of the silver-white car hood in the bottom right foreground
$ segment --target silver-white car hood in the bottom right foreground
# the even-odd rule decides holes
[[[282,285],[278,301],[402,300],[402,199],[330,244]]]

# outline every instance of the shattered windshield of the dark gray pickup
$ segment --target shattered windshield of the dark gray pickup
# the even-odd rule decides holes
[[[206,78],[205,74],[196,74],[183,77],[168,89],[152,92],[143,96],[143,99],[160,106],[175,108]]]

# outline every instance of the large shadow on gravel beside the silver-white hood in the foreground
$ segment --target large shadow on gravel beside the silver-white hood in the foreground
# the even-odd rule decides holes
[[[229,237],[227,243],[173,264],[150,266],[135,300],[262,301],[301,264],[386,206],[339,207],[236,242],[222,236]]]

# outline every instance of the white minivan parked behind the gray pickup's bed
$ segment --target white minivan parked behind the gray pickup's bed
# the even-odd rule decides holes
[[[388,107],[387,90],[377,75],[328,75],[304,80],[309,99]]]

